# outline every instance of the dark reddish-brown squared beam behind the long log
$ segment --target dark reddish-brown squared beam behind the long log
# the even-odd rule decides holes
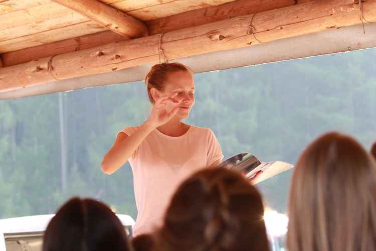
[[[263,2],[258,0],[237,0],[219,6],[212,6],[209,8],[194,10],[152,21],[146,21],[145,24],[149,29],[149,35],[156,35],[222,21],[231,17],[239,17],[253,13],[269,11],[275,8],[283,8],[296,4],[303,4],[308,1],[311,0],[264,0]],[[118,39],[115,39],[113,32],[106,31],[97,34],[81,36],[74,39],[66,39],[45,45],[5,52],[3,53],[3,64],[4,67],[22,64],[37,58],[44,58],[48,56],[73,52],[77,50],[76,48],[78,46],[81,50],[83,50],[90,47],[96,47],[99,45],[127,39],[126,37],[120,38],[120,35],[118,37]],[[78,40],[79,42],[76,42],[76,40]],[[86,44],[85,41],[87,41],[88,44]],[[91,44],[94,42],[96,42],[96,44]]]

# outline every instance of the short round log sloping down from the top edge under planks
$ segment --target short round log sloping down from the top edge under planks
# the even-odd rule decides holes
[[[144,23],[97,0],[52,0],[129,38],[148,36]]]

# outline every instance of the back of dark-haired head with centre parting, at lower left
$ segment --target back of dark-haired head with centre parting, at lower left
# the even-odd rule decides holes
[[[43,251],[132,250],[125,229],[111,209],[93,199],[72,198],[47,226]]]

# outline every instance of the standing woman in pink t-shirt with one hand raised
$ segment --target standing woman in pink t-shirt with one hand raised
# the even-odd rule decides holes
[[[180,63],[154,65],[145,78],[149,118],[119,132],[101,169],[111,174],[129,160],[138,210],[133,236],[161,225],[177,185],[199,169],[218,165],[223,154],[208,128],[181,121],[195,103],[192,71]]]

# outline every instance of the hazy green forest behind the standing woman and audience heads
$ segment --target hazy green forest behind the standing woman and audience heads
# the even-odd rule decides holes
[[[195,74],[186,123],[211,128],[225,158],[240,152],[295,164],[327,131],[376,140],[376,49]],[[100,170],[116,134],[150,107],[142,81],[0,100],[0,218],[49,214],[90,196],[136,217],[128,163]],[[259,183],[265,204],[285,213],[288,170]]]

